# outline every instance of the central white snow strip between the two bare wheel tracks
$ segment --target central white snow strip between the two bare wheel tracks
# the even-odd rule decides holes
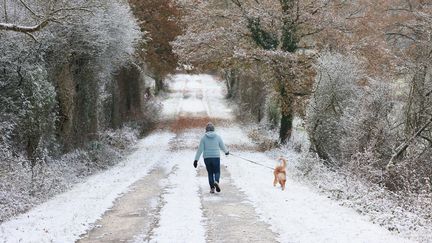
[[[170,156],[169,164],[175,167],[168,178],[169,189],[163,197],[159,227],[150,242],[205,242],[199,182],[190,162],[193,156],[193,151]]]

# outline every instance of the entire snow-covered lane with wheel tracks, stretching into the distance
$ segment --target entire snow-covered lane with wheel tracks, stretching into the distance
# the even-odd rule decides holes
[[[124,163],[0,225],[0,242],[409,242],[296,181],[274,188],[272,171],[232,156],[222,158],[222,192],[210,194],[202,160],[192,167],[199,119],[215,121],[233,153],[270,167],[275,158],[251,150],[222,83],[177,75],[171,88],[169,126]]]

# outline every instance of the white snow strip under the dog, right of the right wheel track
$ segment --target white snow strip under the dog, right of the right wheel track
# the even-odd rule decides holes
[[[261,153],[239,155],[270,167],[275,163]],[[410,242],[289,178],[285,191],[274,188],[270,169],[236,157],[227,160],[234,184],[246,193],[261,219],[279,233],[281,242]]]

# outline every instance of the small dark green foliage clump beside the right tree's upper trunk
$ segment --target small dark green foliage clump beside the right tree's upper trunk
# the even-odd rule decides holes
[[[265,50],[275,50],[278,47],[279,41],[277,36],[273,33],[263,30],[259,18],[249,18],[248,28],[252,33],[252,39],[261,48]]]

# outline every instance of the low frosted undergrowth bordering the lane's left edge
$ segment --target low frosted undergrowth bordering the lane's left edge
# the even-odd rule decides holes
[[[138,130],[128,127],[107,131],[86,149],[48,158],[33,168],[22,156],[9,158],[13,163],[0,163],[0,222],[118,163],[137,141],[138,134]]]

